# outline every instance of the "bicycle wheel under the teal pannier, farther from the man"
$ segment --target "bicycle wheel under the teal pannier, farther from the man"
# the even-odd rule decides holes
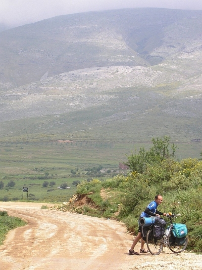
[[[170,234],[168,236],[168,247],[169,249],[174,253],[180,253],[186,249],[186,246],[188,244],[188,237],[184,238],[176,238],[173,236],[173,234]]]

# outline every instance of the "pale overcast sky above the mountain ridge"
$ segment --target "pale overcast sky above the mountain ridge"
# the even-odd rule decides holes
[[[11,28],[58,15],[146,7],[202,10],[202,0],[0,0],[0,24]]]

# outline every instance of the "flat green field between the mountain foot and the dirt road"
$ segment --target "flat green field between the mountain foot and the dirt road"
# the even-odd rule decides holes
[[[80,134],[80,136],[82,133]],[[52,136],[52,139],[56,135]],[[96,136],[95,136],[96,137]],[[48,137],[50,139],[50,137]],[[21,138],[22,139],[22,138]],[[35,138],[36,140],[36,138]],[[100,180],[111,177],[110,174],[87,175],[86,168],[101,165],[104,169],[113,170],[115,174],[126,173],[119,170],[119,162],[126,162],[131,150],[144,146],[151,147],[151,141],[144,143],[102,142],[102,141],[72,141],[41,142],[14,140],[0,144],[0,181],[4,187],[0,189],[0,200],[37,200],[44,202],[65,202],[75,194],[76,186],[73,181],[97,178]],[[171,140],[172,142],[172,140]],[[195,158],[195,153],[200,156],[201,143],[175,142],[177,145],[176,160]],[[78,170],[75,175],[71,170]],[[46,175],[46,177],[45,177]],[[16,185],[8,189],[6,185],[14,180]],[[44,181],[54,181],[53,187],[42,187]],[[68,183],[70,189],[58,189],[63,183]],[[28,187],[29,191],[22,192]],[[27,198],[28,196],[28,198]]]

